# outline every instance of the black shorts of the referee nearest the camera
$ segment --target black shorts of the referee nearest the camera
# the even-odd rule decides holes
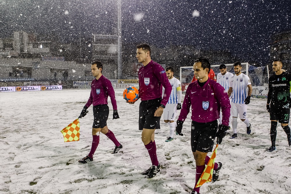
[[[217,132],[217,120],[209,123],[191,124],[191,149],[192,152],[211,152],[214,145],[214,139]]]

